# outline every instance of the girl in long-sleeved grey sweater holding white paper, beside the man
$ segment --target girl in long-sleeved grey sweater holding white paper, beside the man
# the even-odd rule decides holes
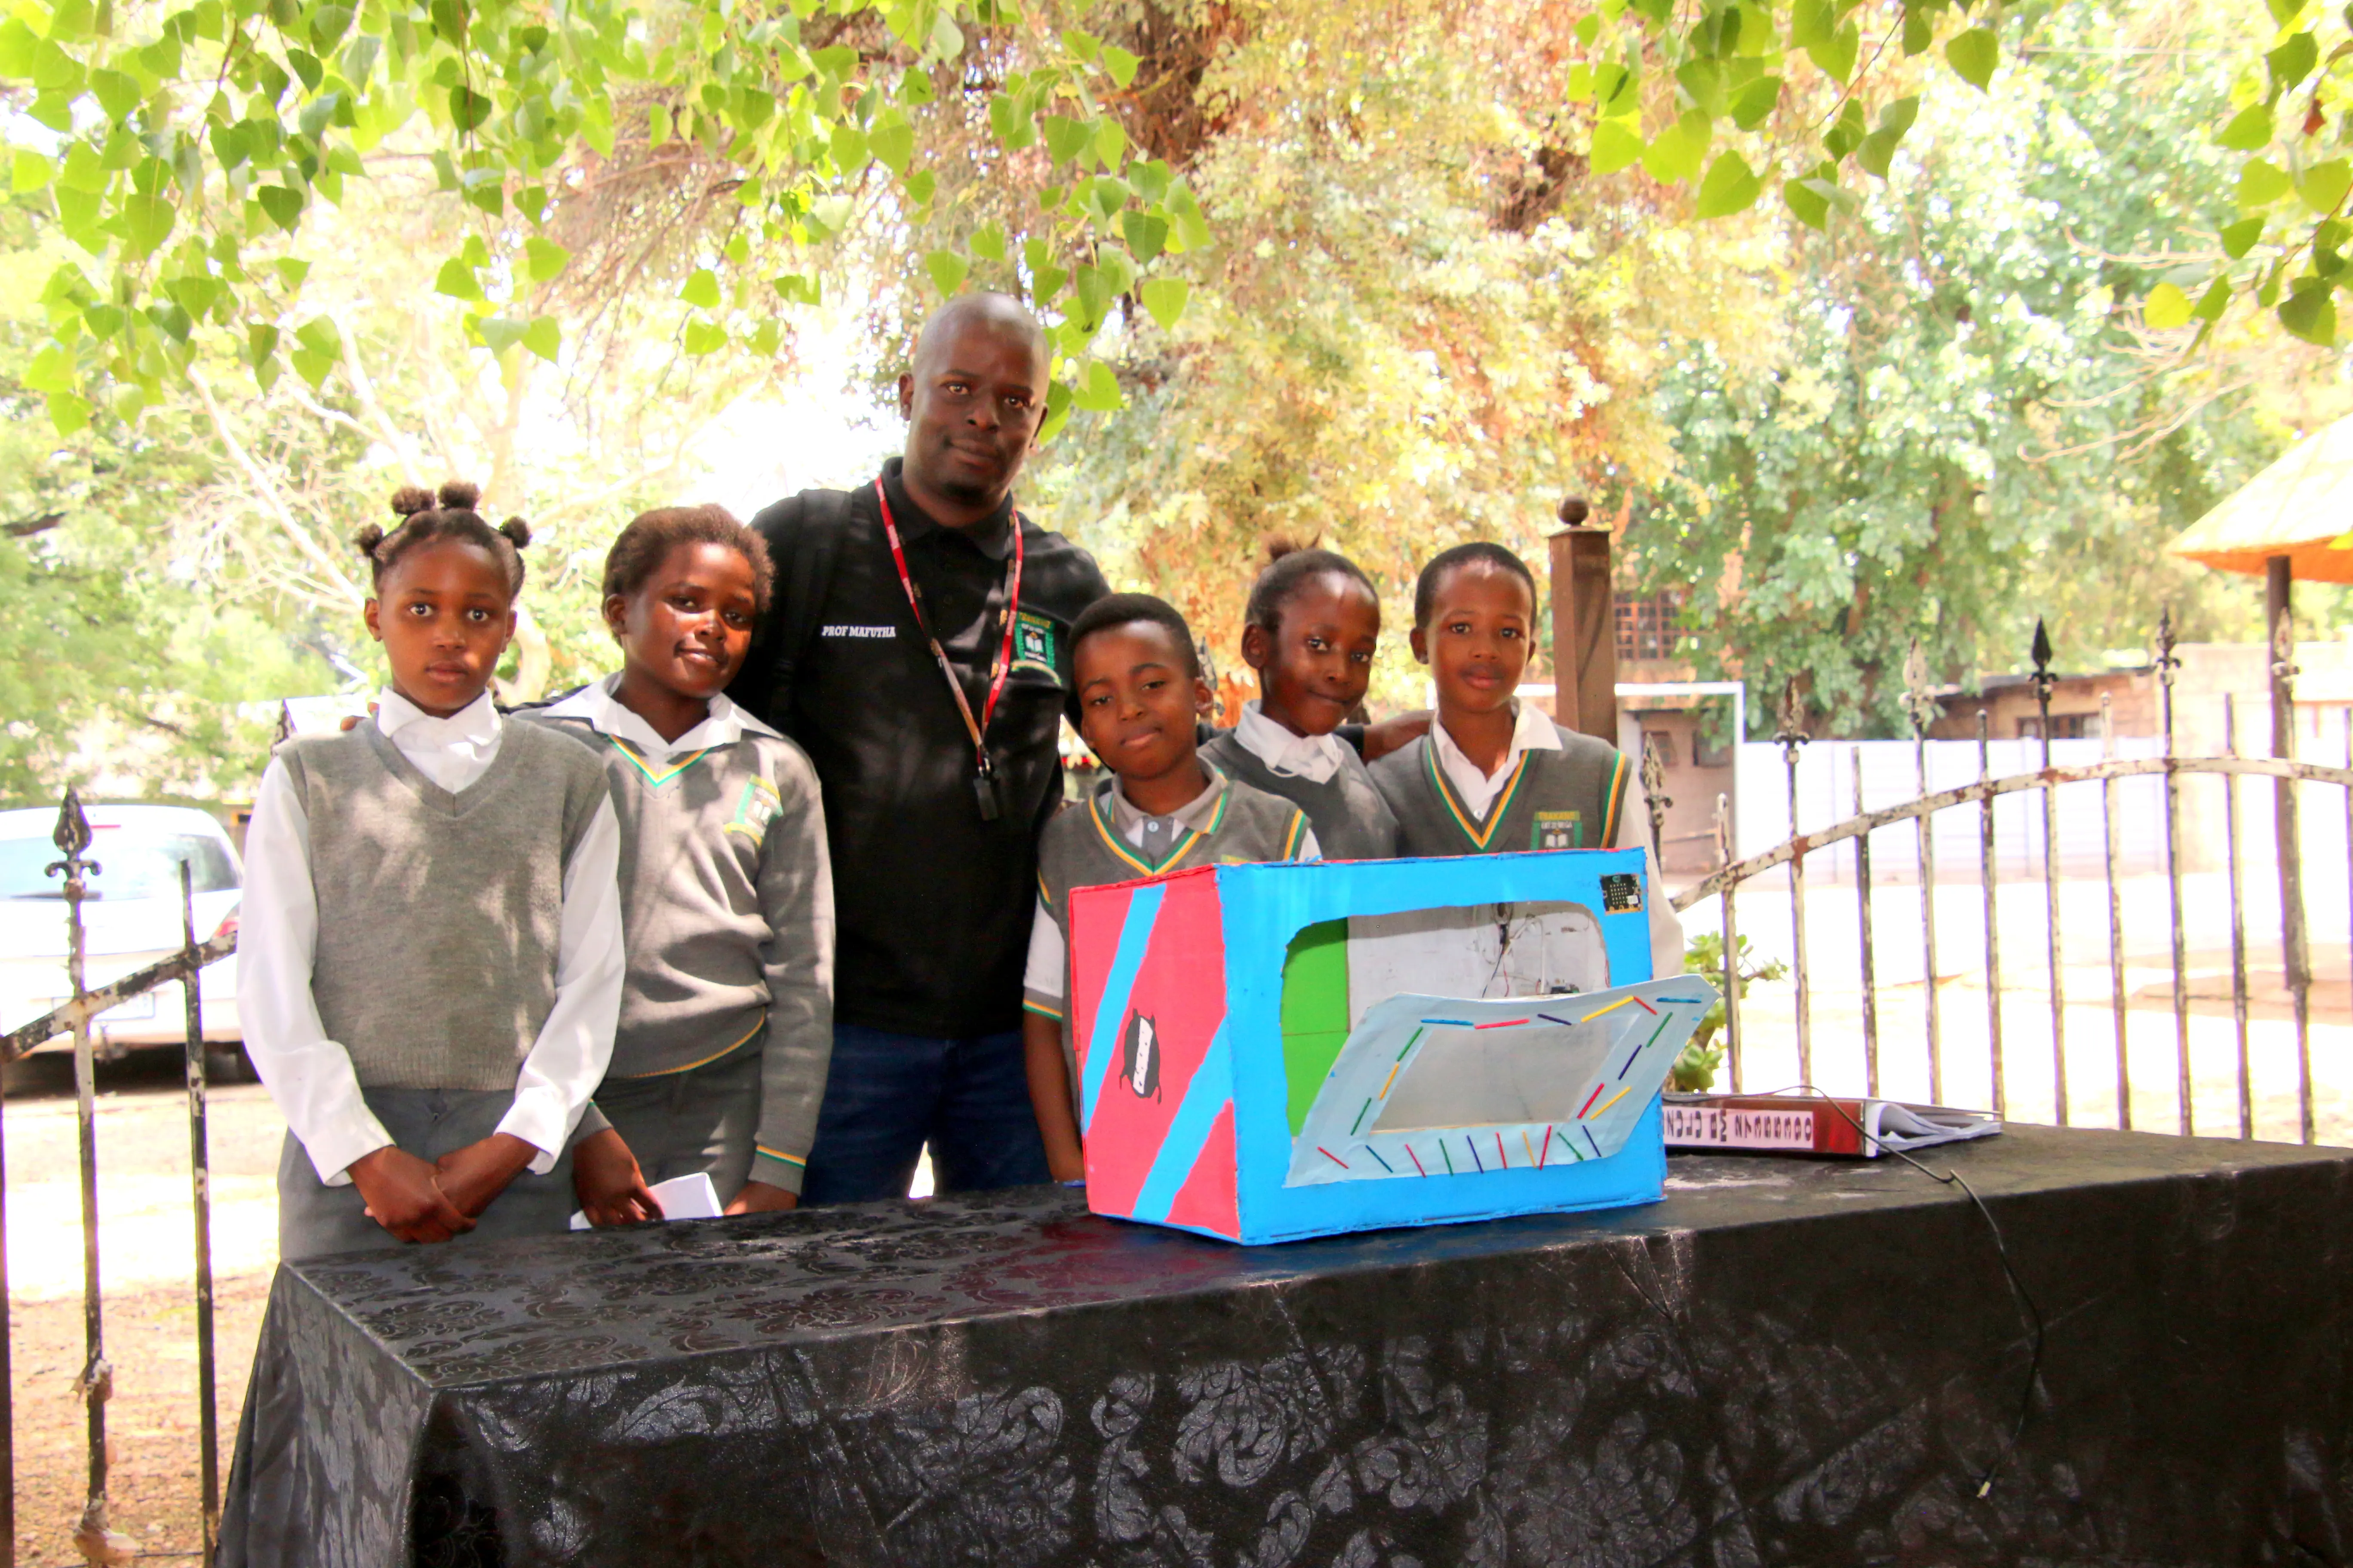
[[[708,1173],[729,1213],[798,1201],[833,1060],[833,872],[807,755],[722,693],[772,581],[720,508],[661,508],[605,559],[624,668],[520,717],[605,759],[628,980],[581,1119],[581,1206],[652,1218]],[[633,1164],[631,1164],[633,1161]]]

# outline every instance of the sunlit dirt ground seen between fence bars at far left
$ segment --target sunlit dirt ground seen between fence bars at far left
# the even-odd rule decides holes
[[[9,1392],[16,1441],[16,1561],[80,1563],[73,1526],[87,1486],[82,1371],[82,1218],[73,1070],[33,1058],[9,1086],[7,1272]],[[254,1086],[212,1093],[214,1340],[221,1472],[278,1267],[278,1140],[285,1121]],[[113,1528],[144,1559],[195,1561],[198,1469],[195,1239],[188,1204],[188,1098],[174,1051],[99,1072],[99,1215],[106,1284],[106,1406]]]

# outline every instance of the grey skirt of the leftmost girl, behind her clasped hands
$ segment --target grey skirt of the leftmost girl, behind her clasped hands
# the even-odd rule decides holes
[[[360,1098],[374,1112],[393,1143],[419,1159],[440,1159],[468,1143],[499,1131],[499,1119],[513,1107],[513,1091],[499,1088],[362,1088]],[[576,1204],[572,1201],[572,1150],[565,1147],[546,1175],[525,1171],[464,1237],[468,1241],[504,1241],[506,1237],[553,1237],[562,1232]],[[367,1218],[358,1182],[329,1187],[301,1140],[287,1133],[278,1152],[278,1258],[325,1258],[379,1246],[409,1246]]]

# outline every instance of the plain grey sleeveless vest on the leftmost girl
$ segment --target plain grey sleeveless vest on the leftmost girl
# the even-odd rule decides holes
[[[362,1088],[513,1088],[555,1006],[565,867],[605,762],[508,722],[452,795],[374,724],[278,750],[311,816],[311,997]]]

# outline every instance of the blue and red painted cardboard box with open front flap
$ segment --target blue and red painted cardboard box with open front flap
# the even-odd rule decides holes
[[[1087,1206],[1257,1244],[1657,1201],[1715,990],[1647,978],[1647,896],[1600,849],[1078,889]]]

